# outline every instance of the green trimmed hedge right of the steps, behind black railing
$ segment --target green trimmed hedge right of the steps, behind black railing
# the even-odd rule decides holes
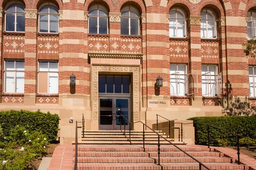
[[[239,134],[241,136],[256,139],[256,117],[232,116],[232,117],[195,117],[195,142],[197,145],[207,145],[207,125],[225,129],[227,131]],[[197,123],[195,123],[197,122]],[[211,146],[236,146],[236,137],[214,127],[210,127],[210,145]]]

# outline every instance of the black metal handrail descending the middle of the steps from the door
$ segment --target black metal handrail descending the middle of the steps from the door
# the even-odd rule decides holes
[[[123,115],[120,114],[120,116],[127,120],[130,124],[131,122],[126,119]],[[143,124],[143,151],[145,152],[145,127],[149,128],[151,131],[153,131],[154,133],[156,133],[158,135],[158,165],[160,165],[160,137],[163,138],[165,141],[169,142],[171,145],[173,145],[174,147],[176,147],[179,151],[185,153],[186,155],[188,155],[190,158],[192,158],[194,161],[196,161],[197,163],[199,163],[199,170],[202,169],[202,166],[204,168],[206,168],[207,170],[211,170],[209,169],[206,165],[204,165],[203,163],[201,163],[200,161],[198,161],[196,158],[194,158],[192,155],[190,155],[189,153],[183,151],[181,148],[179,148],[177,145],[175,145],[174,143],[170,142],[168,139],[166,139],[165,137],[161,136],[158,132],[156,132],[155,130],[153,130],[151,127],[149,127],[148,125],[146,125],[145,123],[143,123],[142,121],[136,121],[133,122],[133,124],[135,123],[142,123]],[[126,123],[124,123],[124,126],[126,125]],[[130,133],[131,133],[131,129],[130,129]],[[131,138],[130,138],[130,142],[131,142]]]

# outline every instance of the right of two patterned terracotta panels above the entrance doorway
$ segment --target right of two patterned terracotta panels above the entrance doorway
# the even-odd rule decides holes
[[[141,53],[141,38],[139,37],[121,37],[122,53]]]

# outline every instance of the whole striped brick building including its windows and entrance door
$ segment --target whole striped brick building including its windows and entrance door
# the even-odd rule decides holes
[[[61,142],[82,114],[98,130],[221,116],[227,91],[256,106],[256,0],[0,0],[0,17],[0,109],[59,114]]]

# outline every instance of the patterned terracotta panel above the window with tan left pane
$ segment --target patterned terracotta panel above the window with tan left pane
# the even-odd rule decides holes
[[[59,37],[58,36],[38,36],[39,54],[58,54]]]

